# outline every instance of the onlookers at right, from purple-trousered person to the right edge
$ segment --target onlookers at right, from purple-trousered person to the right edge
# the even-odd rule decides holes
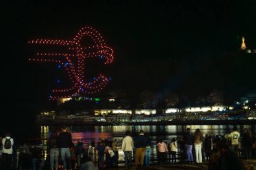
[[[232,153],[245,159],[251,159],[253,150],[255,150],[254,136],[249,133],[247,128],[243,130],[241,136],[236,126],[233,127],[232,132],[223,137],[220,135],[211,136],[211,134],[205,134],[205,137],[203,137],[201,130],[197,129],[192,134],[190,128],[187,128],[181,142],[185,144],[187,160],[196,163],[201,163],[203,160],[209,161],[212,150],[218,148],[220,144],[226,144]],[[194,151],[194,154],[192,151]],[[193,159],[193,156],[195,156],[195,159]]]

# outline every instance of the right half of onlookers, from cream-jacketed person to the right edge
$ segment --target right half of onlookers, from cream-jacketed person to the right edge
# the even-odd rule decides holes
[[[224,137],[211,134],[203,136],[200,129],[196,129],[192,133],[191,129],[187,128],[185,134],[177,142],[175,138],[172,138],[168,144],[162,138],[157,139],[158,164],[166,163],[167,155],[169,155],[169,162],[171,160],[172,163],[177,163],[178,150],[181,162],[202,163],[203,161],[210,161],[212,151],[216,151],[216,149],[219,151],[222,146],[226,146],[228,151],[238,158],[251,159],[252,153],[255,151],[255,138],[251,136],[247,128],[240,136],[236,126],[234,126],[232,132]],[[131,132],[127,131],[125,138],[123,138],[122,148],[125,153],[125,167],[132,165],[132,157],[135,157],[135,166],[150,165],[152,142],[148,136],[143,134],[143,130],[140,131],[138,136],[134,137],[131,137]]]

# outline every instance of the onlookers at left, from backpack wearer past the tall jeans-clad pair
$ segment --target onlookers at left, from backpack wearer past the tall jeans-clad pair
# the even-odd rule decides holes
[[[20,151],[15,151],[13,138],[6,132],[2,139],[0,155],[0,169],[4,170],[41,170],[41,169],[97,169],[90,157],[84,157],[84,144],[77,140],[73,144],[71,133],[67,132],[67,127],[63,127],[61,132],[53,131],[47,140],[46,159],[44,151],[38,146],[29,146],[24,143]],[[17,153],[17,155],[15,155]],[[16,159],[18,157],[18,159]],[[92,166],[93,165],[93,166]]]

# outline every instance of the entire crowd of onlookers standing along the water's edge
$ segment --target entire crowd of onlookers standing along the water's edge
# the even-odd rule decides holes
[[[243,134],[234,126],[232,132],[225,136],[205,134],[200,129],[191,132],[187,128],[181,138],[164,140],[157,138],[156,144],[143,130],[139,134],[132,135],[128,130],[122,141],[102,139],[96,144],[91,140],[88,148],[84,148],[82,140],[77,139],[73,143],[71,133],[67,127],[61,128],[61,132],[53,131],[47,140],[47,154],[44,160],[42,148],[30,147],[26,142],[20,152],[15,151],[14,141],[10,132],[5,133],[1,144],[1,166],[3,169],[103,169],[119,166],[119,151],[122,150],[125,159],[125,168],[148,167],[152,164],[152,149],[156,148],[157,163],[202,163],[209,161],[209,169],[226,169],[241,166],[245,159],[255,158],[255,138],[247,128]],[[119,145],[119,146],[118,146]],[[121,145],[121,146],[120,146]],[[18,155],[15,155],[18,154]],[[15,160],[18,157],[18,160]],[[223,161],[225,160],[225,161]],[[236,160],[232,163],[230,160]],[[15,164],[15,162],[17,162]],[[230,165],[228,164],[230,163]],[[240,163],[238,165],[238,163]]]

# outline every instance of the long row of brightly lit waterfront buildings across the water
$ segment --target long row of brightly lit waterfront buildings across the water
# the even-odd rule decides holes
[[[245,120],[256,119],[256,111],[250,108],[233,110],[228,106],[169,108],[162,114],[156,110],[83,110],[76,114],[57,115],[55,112],[42,112],[37,116],[41,123],[70,122],[83,124],[86,122],[159,122],[172,120]],[[134,115],[131,113],[135,113]]]

